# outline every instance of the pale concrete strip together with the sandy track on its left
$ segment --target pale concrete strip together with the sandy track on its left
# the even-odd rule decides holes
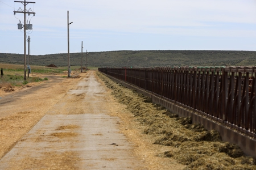
[[[145,169],[108,95],[89,71],[2,97],[0,169]]]

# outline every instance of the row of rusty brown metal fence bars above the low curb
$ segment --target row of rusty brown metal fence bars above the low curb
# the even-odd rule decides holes
[[[98,70],[256,137],[256,67]]]

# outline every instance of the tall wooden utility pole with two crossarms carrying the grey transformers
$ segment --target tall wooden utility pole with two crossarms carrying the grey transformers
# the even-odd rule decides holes
[[[26,10],[26,5],[28,5],[28,3],[35,3],[35,2],[26,2],[26,0],[24,1],[14,1],[14,2],[20,2],[23,4],[24,6],[24,10],[23,11],[13,11],[14,15],[15,13],[23,13],[24,14],[24,80],[26,80],[26,29],[27,29],[27,24],[26,24],[26,14],[30,15],[30,14],[34,14],[35,16],[35,12],[30,12],[29,10]]]

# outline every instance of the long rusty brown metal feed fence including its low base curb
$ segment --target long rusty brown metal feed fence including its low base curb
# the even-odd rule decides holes
[[[179,114],[192,117],[224,141],[256,157],[256,80],[254,67],[101,68]]]

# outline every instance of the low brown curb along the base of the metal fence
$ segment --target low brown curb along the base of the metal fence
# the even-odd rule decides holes
[[[146,73],[143,73],[143,74],[145,75]],[[106,75],[106,76],[109,76],[109,75]],[[191,117],[192,122],[195,124],[204,125],[204,127],[208,130],[214,129],[219,131],[223,141],[236,143],[238,146],[242,148],[242,150],[245,152],[246,155],[256,157],[256,138],[255,137],[252,138],[248,130],[245,130],[245,129],[241,130],[241,128],[238,128],[236,126],[230,127],[229,122],[220,120],[217,117],[208,117],[207,113],[200,112],[197,110],[192,111],[191,108],[188,107],[187,105],[180,104],[174,100],[168,99],[167,97],[154,94],[151,91],[144,90],[144,88],[136,86],[135,84],[125,82],[124,80],[114,78],[113,76],[109,76],[109,78],[113,79],[117,83],[121,83],[123,86],[127,88],[137,90],[139,94],[143,94],[144,96],[151,97],[154,103],[163,105],[170,111],[179,114],[179,116],[181,117]],[[142,81],[142,83],[144,82]],[[144,87],[146,86],[146,84],[143,84],[143,85]]]

